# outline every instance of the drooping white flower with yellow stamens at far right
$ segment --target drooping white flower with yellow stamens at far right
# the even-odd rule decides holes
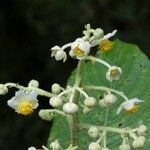
[[[129,101],[125,101],[125,102],[121,103],[121,105],[119,106],[119,108],[117,110],[117,114],[119,114],[122,109],[124,109],[125,111],[127,111],[129,113],[137,112],[138,108],[139,108],[137,103],[141,103],[141,102],[144,102],[144,101],[139,100],[138,98],[133,98]]]

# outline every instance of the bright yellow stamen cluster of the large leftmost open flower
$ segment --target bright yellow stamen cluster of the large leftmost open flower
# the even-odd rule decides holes
[[[33,112],[33,104],[31,102],[21,102],[16,112],[22,115],[30,115]]]

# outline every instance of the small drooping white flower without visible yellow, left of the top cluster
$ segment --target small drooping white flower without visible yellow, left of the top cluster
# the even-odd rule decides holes
[[[66,52],[59,46],[54,46],[51,48],[51,57],[55,57],[57,61],[63,60],[65,62],[67,60]]]

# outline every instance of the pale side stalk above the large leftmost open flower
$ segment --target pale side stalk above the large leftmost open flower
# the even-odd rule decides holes
[[[17,89],[24,90],[24,91],[27,91],[27,92],[35,91],[35,92],[37,92],[38,95],[46,96],[46,97],[53,97],[53,96],[55,96],[55,94],[52,94],[52,93],[47,92],[47,91],[44,91],[44,90],[42,90],[40,88],[24,87],[24,86],[16,84],[16,83],[6,83],[5,86],[7,86],[8,88],[15,87]]]

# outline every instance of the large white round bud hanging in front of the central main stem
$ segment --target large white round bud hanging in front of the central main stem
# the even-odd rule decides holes
[[[78,105],[75,103],[66,103],[63,105],[63,111],[67,114],[74,114],[78,111]]]

